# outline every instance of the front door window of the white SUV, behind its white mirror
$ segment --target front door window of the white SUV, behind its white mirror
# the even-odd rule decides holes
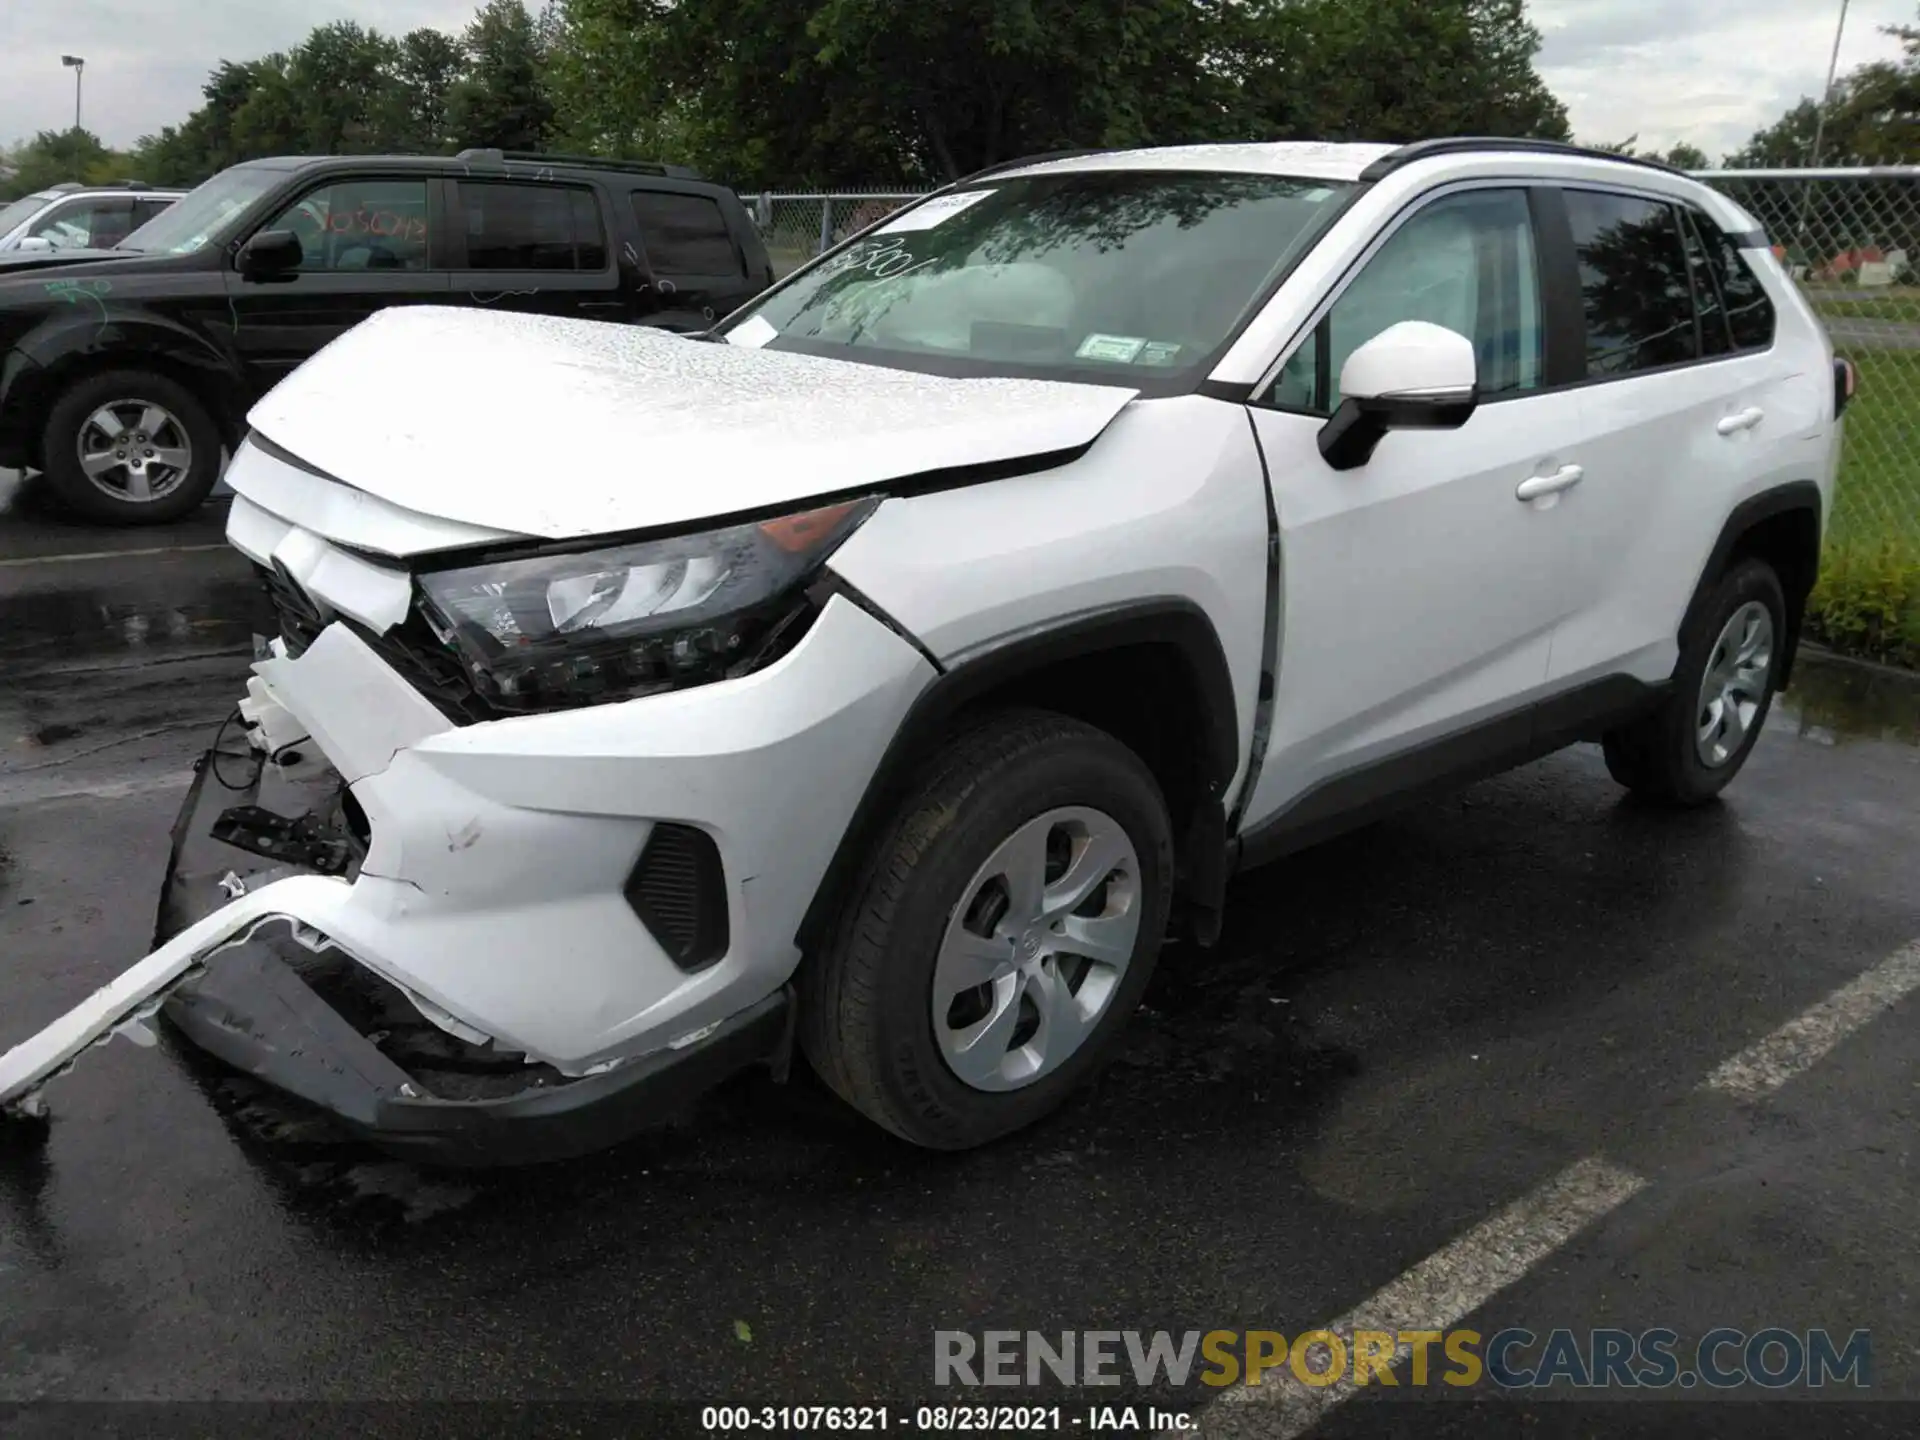
[[[1288,357],[1265,401],[1331,415],[1348,355],[1400,321],[1473,340],[1482,396],[1540,388],[1540,265],[1524,190],[1448,196],[1394,230]]]

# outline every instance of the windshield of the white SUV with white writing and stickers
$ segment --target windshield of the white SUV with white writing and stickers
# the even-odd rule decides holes
[[[1077,171],[935,196],[743,311],[733,344],[1139,384],[1208,361],[1350,186]]]

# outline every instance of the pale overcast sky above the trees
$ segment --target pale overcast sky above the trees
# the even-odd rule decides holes
[[[1841,69],[1891,58],[1882,25],[1916,0],[1853,0]],[[73,119],[84,56],[84,121],[111,146],[182,119],[219,60],[298,44],[330,19],[382,31],[457,31],[468,0],[0,0],[0,144]],[[1826,81],[1839,0],[1532,0],[1540,67],[1582,140],[1668,146],[1715,159]]]

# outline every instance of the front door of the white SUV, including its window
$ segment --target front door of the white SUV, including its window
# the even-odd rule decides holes
[[[1536,255],[1524,188],[1430,200],[1256,396],[1281,526],[1281,641],[1244,828],[1315,789],[1315,804],[1363,797],[1369,768],[1428,745],[1526,743],[1565,595],[1551,563],[1559,507],[1517,490],[1580,461],[1578,394],[1546,390]],[[1480,407],[1459,430],[1396,432],[1367,465],[1334,470],[1317,434],[1340,403],[1340,367],[1400,321],[1473,340]]]

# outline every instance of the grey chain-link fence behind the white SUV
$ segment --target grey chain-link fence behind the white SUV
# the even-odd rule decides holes
[[[1761,221],[1836,349],[1860,369],[1834,538],[1920,553],[1920,165],[1699,179]],[[891,186],[741,200],[783,276],[922,194]]]

